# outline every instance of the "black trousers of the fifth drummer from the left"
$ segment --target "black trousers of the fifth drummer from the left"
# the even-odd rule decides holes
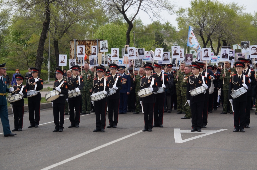
[[[102,99],[103,100],[103,99]],[[96,129],[105,129],[105,113],[106,113],[106,102],[95,101],[95,114],[96,114]]]

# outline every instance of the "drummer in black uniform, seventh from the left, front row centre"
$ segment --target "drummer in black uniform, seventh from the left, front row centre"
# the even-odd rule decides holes
[[[157,81],[156,79],[152,79],[152,70],[154,69],[152,65],[150,64],[145,64],[144,65],[145,68],[145,74],[146,76],[142,77],[140,80],[140,90],[141,89],[145,89],[145,88],[149,88],[152,87],[150,89],[150,92],[157,92],[158,91],[158,87],[157,87]],[[152,81],[154,81],[152,83]],[[140,104],[143,105],[143,112],[144,112],[144,129],[143,132],[145,131],[153,131],[153,109],[154,109],[154,103],[156,102],[155,100],[155,95],[154,93],[146,96],[146,97],[140,97]]]

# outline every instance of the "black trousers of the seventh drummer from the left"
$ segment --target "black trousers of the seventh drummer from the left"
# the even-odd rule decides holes
[[[153,109],[154,103],[143,103],[145,129],[153,128]]]

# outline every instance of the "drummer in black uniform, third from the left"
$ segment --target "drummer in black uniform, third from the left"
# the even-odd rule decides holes
[[[66,97],[68,94],[68,83],[63,80],[62,76],[65,74],[60,68],[55,68],[56,78],[57,80],[53,84],[53,90],[57,90],[60,94],[60,97],[52,101],[53,104],[53,120],[55,124],[55,128],[53,132],[62,132],[63,123],[64,123],[64,109]],[[60,87],[59,87],[60,86]],[[60,113],[60,122],[59,122],[59,113]]]

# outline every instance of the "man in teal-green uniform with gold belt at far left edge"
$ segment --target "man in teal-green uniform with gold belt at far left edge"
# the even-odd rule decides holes
[[[10,124],[8,119],[6,92],[11,93],[14,91],[12,87],[10,89],[6,86],[6,78],[4,74],[6,72],[5,63],[0,65],[0,118],[3,126],[4,136],[14,136],[16,133],[12,133],[10,130]]]

